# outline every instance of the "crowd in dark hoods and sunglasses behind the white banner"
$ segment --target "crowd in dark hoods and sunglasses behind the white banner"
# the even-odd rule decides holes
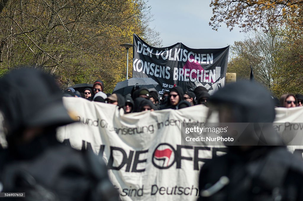
[[[105,94],[103,92],[104,83],[96,80],[93,89],[85,88],[84,93],[76,91],[74,88],[67,88],[63,96],[82,97],[89,101],[96,101],[118,105],[123,108],[125,114],[132,112],[142,112],[145,110],[181,109],[202,104],[208,107],[210,95],[203,86],[198,86],[194,91],[184,91],[181,87],[175,86],[170,91],[165,91],[162,97],[155,90],[148,90],[145,87],[134,86],[130,94]],[[302,94],[283,94],[280,100],[272,97],[275,107],[299,107],[303,106]]]

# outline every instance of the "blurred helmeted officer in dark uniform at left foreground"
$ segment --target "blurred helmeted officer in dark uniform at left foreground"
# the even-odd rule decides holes
[[[0,152],[0,191],[25,192],[22,200],[118,199],[100,158],[56,140],[56,128],[74,120],[52,77],[19,69],[2,77],[0,85],[8,141]]]

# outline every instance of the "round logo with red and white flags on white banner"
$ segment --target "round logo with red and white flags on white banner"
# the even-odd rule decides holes
[[[175,163],[175,149],[167,143],[161,143],[153,153],[152,163],[156,168],[168,169]]]

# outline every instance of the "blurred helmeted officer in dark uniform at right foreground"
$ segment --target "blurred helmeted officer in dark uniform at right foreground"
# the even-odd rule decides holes
[[[226,85],[210,97],[221,123],[271,123],[274,103],[268,91],[253,82]],[[212,108],[212,107],[211,107]],[[226,155],[201,168],[198,200],[303,200],[303,162],[280,145],[268,127],[264,136],[273,146],[228,146]],[[271,127],[272,128],[272,127]],[[253,130],[247,134],[256,139]],[[253,136],[254,135],[254,136]]]

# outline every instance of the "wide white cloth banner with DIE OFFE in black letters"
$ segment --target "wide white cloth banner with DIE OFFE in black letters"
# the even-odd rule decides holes
[[[115,105],[65,97],[80,123],[64,126],[58,139],[92,149],[105,160],[123,200],[195,200],[199,168],[220,148],[181,145],[181,123],[203,123],[208,108],[119,113]]]

